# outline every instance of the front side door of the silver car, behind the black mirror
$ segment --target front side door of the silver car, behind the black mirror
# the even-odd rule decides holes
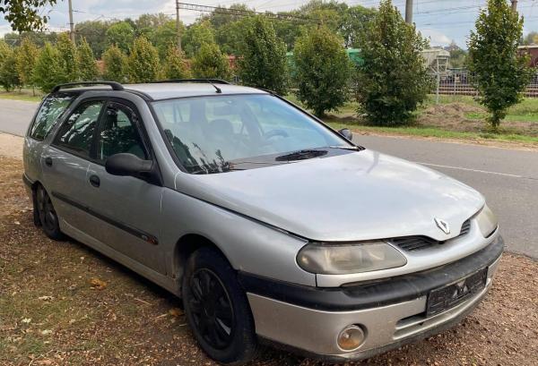
[[[91,234],[144,266],[164,272],[159,251],[162,187],[131,176],[108,174],[105,169],[107,158],[118,153],[154,159],[135,111],[126,101],[108,101],[105,106],[84,189],[91,209],[102,222]]]

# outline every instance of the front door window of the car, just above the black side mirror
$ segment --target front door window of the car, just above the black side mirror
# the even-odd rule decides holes
[[[117,103],[108,104],[97,142],[98,160],[104,162],[107,157],[119,153],[148,158],[136,121],[137,117],[131,108]]]

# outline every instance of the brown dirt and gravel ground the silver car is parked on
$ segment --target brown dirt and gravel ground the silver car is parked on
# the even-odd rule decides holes
[[[32,223],[22,162],[0,157],[0,365],[215,365],[180,302]],[[484,302],[451,330],[357,364],[538,364],[538,263],[505,254]],[[321,363],[265,349],[255,365]]]

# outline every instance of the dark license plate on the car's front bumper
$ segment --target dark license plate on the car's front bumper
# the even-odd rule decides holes
[[[488,279],[488,268],[483,268],[454,284],[430,291],[426,317],[437,315],[464,302],[483,290]]]

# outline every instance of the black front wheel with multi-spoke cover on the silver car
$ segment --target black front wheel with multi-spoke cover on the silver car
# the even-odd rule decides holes
[[[209,357],[233,365],[255,358],[256,332],[247,295],[220,252],[202,248],[190,256],[182,297],[187,321]]]

